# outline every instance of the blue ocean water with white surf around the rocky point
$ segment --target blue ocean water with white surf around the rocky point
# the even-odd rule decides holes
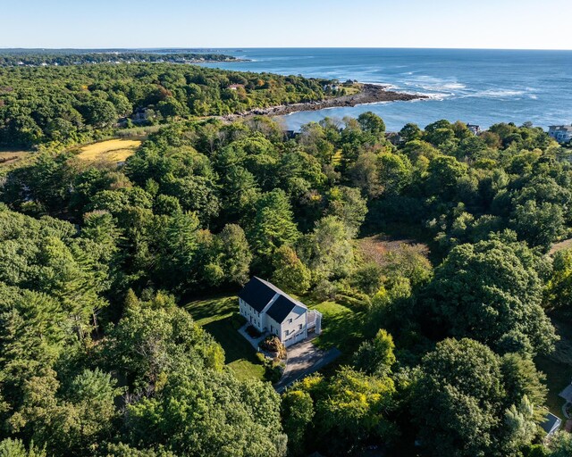
[[[325,116],[343,118],[372,111],[387,128],[407,122],[425,127],[434,120],[463,120],[489,127],[528,120],[546,128],[572,122],[572,51],[459,49],[263,48],[223,49],[252,62],[206,66],[283,75],[357,79],[431,97],[416,102],[366,104],[295,112],[283,116],[289,129]]]

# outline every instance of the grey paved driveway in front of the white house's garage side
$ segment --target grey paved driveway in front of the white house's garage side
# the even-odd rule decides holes
[[[340,351],[335,347],[324,351],[318,349],[312,341],[308,340],[290,346],[288,348],[284,375],[282,379],[274,385],[276,392],[282,393],[282,391],[294,381],[320,370],[340,354]]]

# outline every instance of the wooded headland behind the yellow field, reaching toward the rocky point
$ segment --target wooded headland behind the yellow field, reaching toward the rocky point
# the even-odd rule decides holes
[[[135,124],[321,100],[336,95],[328,82],[158,62],[1,68],[0,145],[61,149]]]

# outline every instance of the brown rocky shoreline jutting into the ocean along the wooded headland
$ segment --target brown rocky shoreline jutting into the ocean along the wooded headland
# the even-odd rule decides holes
[[[299,104],[281,104],[268,108],[255,108],[247,112],[238,112],[223,116],[223,120],[237,120],[240,118],[256,115],[283,116],[291,112],[317,111],[324,108],[338,108],[343,106],[356,106],[357,104],[374,104],[380,102],[408,102],[411,100],[423,100],[428,96],[420,94],[407,94],[405,92],[394,92],[387,90],[387,86],[376,84],[360,84],[360,91],[349,96],[338,96],[326,98],[317,102],[306,102]]]

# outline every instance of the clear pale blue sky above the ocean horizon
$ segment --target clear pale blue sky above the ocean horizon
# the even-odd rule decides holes
[[[0,47],[572,49],[572,0],[0,0]]]

